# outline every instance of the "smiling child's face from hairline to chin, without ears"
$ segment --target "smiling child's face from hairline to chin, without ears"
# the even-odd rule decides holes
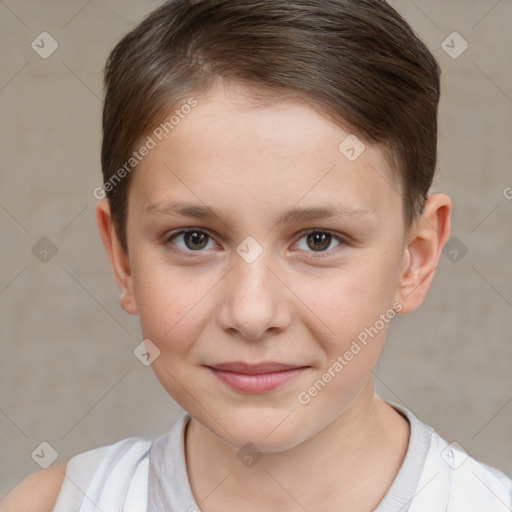
[[[125,304],[184,409],[232,446],[280,451],[371,396],[404,263],[400,187],[377,148],[349,161],[338,149],[349,133],[307,104],[253,108],[221,88],[196,98],[133,176]],[[215,216],[166,209],[177,202]],[[278,222],[332,207],[339,214]],[[187,228],[199,233],[166,241]],[[321,233],[308,238],[312,228]],[[235,389],[210,368],[269,361],[301,369],[274,389],[235,376],[248,386]],[[330,382],[308,391],[329,368]]]

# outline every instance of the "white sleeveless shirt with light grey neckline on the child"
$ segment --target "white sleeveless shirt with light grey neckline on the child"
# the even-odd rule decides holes
[[[374,512],[510,512],[512,480],[442,439],[407,408],[403,464]],[[200,512],[185,464],[183,414],[155,441],[131,437],[72,457],[53,512]],[[229,512],[229,511],[227,511]]]

